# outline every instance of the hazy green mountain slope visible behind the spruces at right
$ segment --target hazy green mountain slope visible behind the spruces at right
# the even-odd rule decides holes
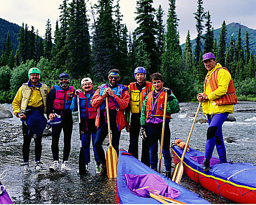
[[[235,39],[235,42],[237,41],[238,29],[239,29],[239,23],[233,22],[233,23],[230,23],[227,25],[227,42],[228,42],[228,44],[230,42],[232,34],[233,34],[233,38]],[[216,37],[216,39],[217,39],[217,43],[218,43],[218,40],[220,39],[220,30],[221,30],[221,28],[213,30],[214,37]],[[246,31],[249,34],[250,52],[255,54],[255,51],[256,51],[256,29],[250,29],[247,26],[241,25],[241,39],[242,39],[243,47],[245,45],[245,32]],[[203,36],[205,36],[205,34]],[[192,50],[194,50],[196,47],[196,39],[191,40],[191,45],[192,45]],[[203,45],[204,45],[204,40],[203,40]],[[183,45],[181,45],[181,49],[183,50],[184,47],[185,47],[185,43],[183,43]]]

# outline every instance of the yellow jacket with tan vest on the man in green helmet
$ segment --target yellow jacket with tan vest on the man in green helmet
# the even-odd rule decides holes
[[[12,110],[14,115],[22,110],[26,110],[29,105],[31,107],[44,107],[46,113],[46,98],[48,97],[49,88],[45,83],[41,83],[41,87],[29,87],[28,83],[24,83],[16,93],[14,101],[12,102]]]

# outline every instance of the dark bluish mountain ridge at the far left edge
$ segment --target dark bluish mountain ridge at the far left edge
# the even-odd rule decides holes
[[[0,18],[0,54],[2,54],[4,42],[6,42],[6,37],[9,32],[10,40],[12,43],[12,49],[14,49],[14,54],[18,49],[18,36],[21,26],[16,25],[16,23],[8,22],[5,19]]]

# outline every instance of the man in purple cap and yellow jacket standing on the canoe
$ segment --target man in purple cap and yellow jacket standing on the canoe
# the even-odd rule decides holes
[[[204,81],[204,93],[197,94],[197,100],[202,103],[203,113],[207,115],[206,156],[203,170],[210,170],[210,159],[216,146],[220,163],[227,162],[223,140],[222,125],[228,114],[234,112],[237,104],[234,83],[229,71],[217,63],[213,53],[203,55],[203,63],[208,73]]]

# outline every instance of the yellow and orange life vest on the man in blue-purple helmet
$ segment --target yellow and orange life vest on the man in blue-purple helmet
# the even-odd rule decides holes
[[[150,82],[146,82],[146,86],[141,91],[137,89],[136,82],[130,83],[130,108],[132,113],[139,113],[142,111],[143,101],[151,91],[151,88],[152,84]]]

